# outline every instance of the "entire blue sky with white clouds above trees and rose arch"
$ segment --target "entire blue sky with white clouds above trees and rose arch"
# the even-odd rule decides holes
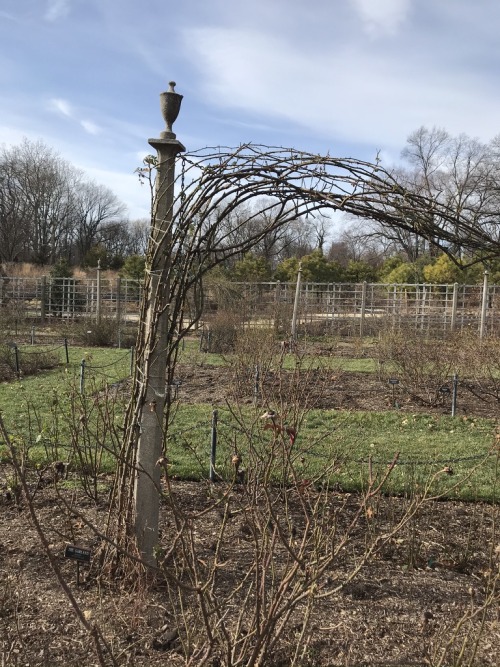
[[[187,150],[396,164],[424,126],[500,134],[497,0],[0,0],[0,144],[41,139],[149,215],[134,170],[184,98]]]

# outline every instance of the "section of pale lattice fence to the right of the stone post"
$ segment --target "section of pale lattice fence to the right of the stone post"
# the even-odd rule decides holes
[[[404,329],[446,336],[458,331],[496,335],[500,287],[381,283],[231,283],[206,289],[205,319],[238,312],[249,325],[290,332],[294,303],[300,333],[373,336]]]

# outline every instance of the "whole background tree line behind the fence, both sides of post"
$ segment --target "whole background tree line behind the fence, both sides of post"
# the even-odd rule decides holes
[[[446,208],[446,235],[436,225],[433,235],[421,233],[418,220],[394,225],[384,216],[332,211],[290,216],[287,224],[273,226],[272,208],[249,201],[221,222],[221,244],[245,247],[247,237],[259,240],[251,254],[234,253],[216,273],[229,280],[288,281],[301,260],[304,278],[315,282],[475,283],[485,269],[499,282],[500,259],[491,246],[487,258],[477,243],[471,250],[467,234],[479,229],[493,245],[500,242],[499,158],[500,135],[482,143],[421,127],[408,137],[392,173],[413,196]],[[335,234],[339,220],[343,231]],[[108,188],[87,180],[43,142],[25,139],[0,150],[0,261],[100,261],[114,269],[126,262],[125,273],[130,265],[139,277],[144,262],[138,256],[145,254],[148,235],[148,220],[130,222]]]

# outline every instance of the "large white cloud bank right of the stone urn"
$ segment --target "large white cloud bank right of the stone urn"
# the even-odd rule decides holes
[[[296,135],[322,137],[333,146],[350,142],[401,149],[421,125],[495,136],[497,90],[481,90],[477,71],[447,62],[448,43],[440,51],[405,52],[403,42],[382,50],[367,40],[331,40],[298,50],[293,39],[263,30],[185,33],[186,53],[200,70],[202,96],[221,113],[236,109],[288,121]]]

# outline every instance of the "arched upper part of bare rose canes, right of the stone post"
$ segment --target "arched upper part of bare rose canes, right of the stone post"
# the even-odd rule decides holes
[[[161,276],[171,286],[170,333],[175,340],[185,333],[187,291],[198,294],[201,314],[204,274],[315,212],[339,211],[418,234],[457,263],[457,247],[481,259],[500,250],[499,241],[473,215],[459,216],[436,199],[407,189],[397,172],[378,163],[244,144],[185,153],[178,167],[172,222],[162,231],[169,235],[170,261]],[[161,244],[157,239],[150,245],[149,263]]]

